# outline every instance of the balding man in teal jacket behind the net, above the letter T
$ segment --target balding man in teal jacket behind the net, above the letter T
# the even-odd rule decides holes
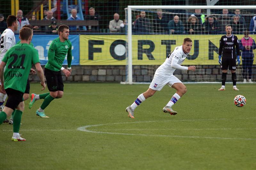
[[[182,21],[180,21],[179,16],[174,16],[171,21],[168,22],[167,26],[169,34],[184,34],[185,29]]]

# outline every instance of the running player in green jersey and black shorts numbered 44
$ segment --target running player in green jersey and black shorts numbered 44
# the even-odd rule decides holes
[[[63,80],[61,71],[68,77],[71,74],[71,42],[68,40],[69,27],[67,25],[60,25],[58,28],[59,38],[52,41],[48,50],[48,62],[44,68],[44,74],[47,82],[49,93],[41,95],[31,94],[31,101],[29,102],[29,109],[35,103],[36,100],[44,99],[44,102],[36,110],[36,115],[39,117],[48,118],[45,115],[44,109],[52,102],[55,98],[61,98],[63,96]],[[67,55],[68,69],[62,67],[63,61]]]

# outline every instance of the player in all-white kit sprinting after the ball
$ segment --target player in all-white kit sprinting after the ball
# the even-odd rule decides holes
[[[134,118],[134,109],[140,105],[141,102],[144,102],[148,97],[153,96],[156,91],[163,89],[166,84],[176,89],[177,92],[172,96],[171,100],[166,104],[166,106],[164,106],[163,111],[165,113],[170,113],[171,115],[177,114],[176,111],[172,110],[172,105],[175,104],[180,99],[180,97],[187,92],[187,89],[186,86],[173,75],[173,72],[176,69],[196,71],[196,66],[181,66],[183,61],[188,56],[191,48],[192,40],[190,38],[185,38],[182,46],[175,47],[172,53],[169,54],[169,56],[166,58],[164,63],[157,68],[148,90],[140,94],[135,102],[126,108],[129,117]]]

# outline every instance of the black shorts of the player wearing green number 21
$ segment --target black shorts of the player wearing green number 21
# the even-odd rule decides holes
[[[21,91],[14,90],[11,88],[5,89],[5,92],[8,96],[7,102],[5,103],[6,107],[11,108],[12,110],[15,110],[20,102],[23,102],[23,94]]]

